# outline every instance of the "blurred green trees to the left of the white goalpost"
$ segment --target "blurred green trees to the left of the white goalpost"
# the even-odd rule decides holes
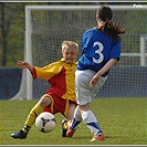
[[[30,2],[0,3],[0,66],[15,66],[24,56],[25,15],[24,8]]]

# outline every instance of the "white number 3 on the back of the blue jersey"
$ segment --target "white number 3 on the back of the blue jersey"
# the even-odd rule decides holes
[[[104,60],[104,55],[102,54],[102,51],[103,51],[104,48],[103,48],[103,44],[101,42],[94,42],[93,46],[96,46],[96,45],[98,45],[98,50],[96,50],[95,53],[99,54],[99,59],[96,60],[96,59],[93,57],[93,62],[98,64]]]

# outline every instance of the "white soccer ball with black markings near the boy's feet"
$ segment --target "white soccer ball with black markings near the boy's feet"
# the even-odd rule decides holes
[[[35,118],[35,126],[42,133],[50,133],[56,126],[56,119],[53,114],[43,112]]]

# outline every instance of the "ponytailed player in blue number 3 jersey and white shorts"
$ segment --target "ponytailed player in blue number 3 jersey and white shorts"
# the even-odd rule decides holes
[[[99,7],[96,11],[97,27],[84,32],[82,38],[82,56],[75,72],[77,107],[66,132],[72,137],[77,125],[83,120],[94,135],[91,141],[105,140],[90,103],[94,92],[105,83],[109,70],[119,61],[122,39],[125,30],[112,21],[109,7]]]

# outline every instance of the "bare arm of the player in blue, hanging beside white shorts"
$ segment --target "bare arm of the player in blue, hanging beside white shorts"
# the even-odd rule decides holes
[[[99,77],[106,73],[108,70],[111,70],[115,64],[117,63],[117,59],[112,59],[109,60],[104,66],[103,69],[101,69],[91,80],[90,82],[90,86],[91,88],[93,88],[95,86],[95,84],[97,83],[97,81],[99,80]]]

